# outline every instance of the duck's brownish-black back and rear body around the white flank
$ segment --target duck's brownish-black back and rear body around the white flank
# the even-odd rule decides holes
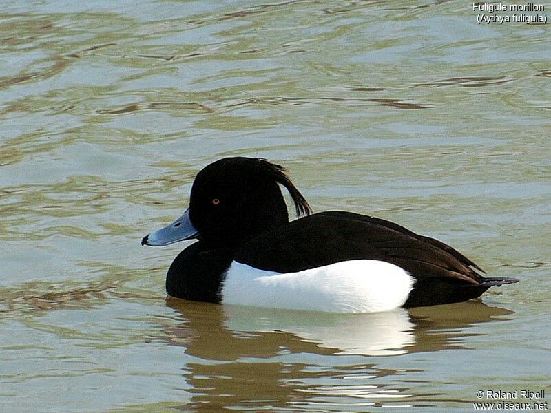
[[[415,278],[406,306],[463,301],[488,288],[477,288],[484,271],[443,242],[393,222],[342,211],[309,215],[264,233],[243,244],[234,259],[278,273],[348,260],[390,262]]]

